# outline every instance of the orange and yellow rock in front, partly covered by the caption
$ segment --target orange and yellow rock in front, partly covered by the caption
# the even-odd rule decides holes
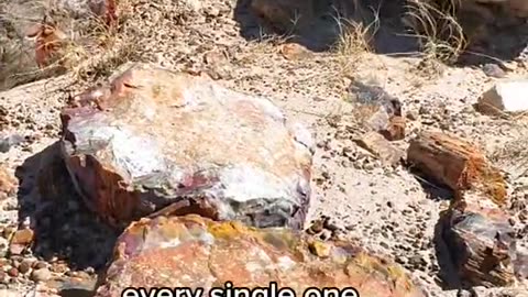
[[[120,296],[133,287],[354,287],[362,297],[425,296],[397,265],[348,242],[327,245],[324,257],[310,240],[283,228],[255,229],[199,216],[157,217],[132,223],[118,240],[97,297]],[[349,295],[350,296],[350,295]]]

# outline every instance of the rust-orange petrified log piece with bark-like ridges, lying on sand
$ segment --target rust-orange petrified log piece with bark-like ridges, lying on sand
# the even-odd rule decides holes
[[[506,201],[506,183],[501,172],[477,147],[460,138],[426,131],[410,142],[407,161],[414,169],[457,195],[476,189],[499,206]]]

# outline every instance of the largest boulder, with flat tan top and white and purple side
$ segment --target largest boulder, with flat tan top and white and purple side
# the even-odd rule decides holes
[[[113,226],[165,207],[302,228],[311,133],[272,101],[212,79],[128,64],[63,110],[63,154],[87,205]]]

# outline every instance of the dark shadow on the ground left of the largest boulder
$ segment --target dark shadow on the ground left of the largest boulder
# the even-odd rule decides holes
[[[100,271],[112,255],[119,230],[111,230],[84,206],[59,152],[56,142],[16,169],[19,221],[30,219],[35,256],[57,257],[72,271]]]

